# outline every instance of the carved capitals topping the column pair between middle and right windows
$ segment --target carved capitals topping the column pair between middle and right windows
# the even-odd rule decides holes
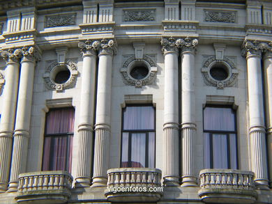
[[[185,39],[175,39],[175,38],[163,38],[160,41],[161,45],[163,45],[163,54],[167,52],[179,52],[179,48],[182,49],[182,52],[185,51],[190,51],[190,52],[195,52],[195,48],[198,44],[197,39],[190,39],[190,38],[185,38]]]

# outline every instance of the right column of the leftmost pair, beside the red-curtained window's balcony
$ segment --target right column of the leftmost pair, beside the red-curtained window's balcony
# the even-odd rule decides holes
[[[8,191],[17,191],[18,176],[20,173],[26,172],[27,168],[34,70],[36,60],[39,58],[37,49],[34,47],[23,47],[22,54],[16,123],[13,135],[13,158]]]

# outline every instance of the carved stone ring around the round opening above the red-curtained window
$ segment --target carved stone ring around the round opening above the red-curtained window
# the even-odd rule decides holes
[[[64,84],[57,84],[54,82],[54,79],[51,77],[51,73],[54,70],[59,68],[68,68],[70,71],[70,78]],[[57,61],[53,61],[45,70],[45,74],[43,75],[43,79],[45,80],[45,86],[49,90],[63,91],[63,89],[73,88],[75,86],[75,82],[77,81],[77,66],[72,61],[66,61],[64,63],[58,63]]]

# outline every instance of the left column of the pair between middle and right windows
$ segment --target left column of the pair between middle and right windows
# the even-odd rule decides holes
[[[179,186],[179,47],[178,40],[163,38],[165,56],[165,186]]]

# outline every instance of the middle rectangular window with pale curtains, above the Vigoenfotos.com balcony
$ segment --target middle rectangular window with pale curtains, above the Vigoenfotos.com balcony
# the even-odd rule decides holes
[[[123,109],[121,167],[155,167],[155,109]]]

